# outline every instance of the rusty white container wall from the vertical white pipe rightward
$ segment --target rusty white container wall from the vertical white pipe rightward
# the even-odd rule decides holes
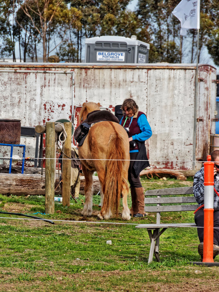
[[[215,69],[211,66],[207,68],[215,76]],[[200,67],[200,73],[202,71]],[[92,100],[100,102],[102,107],[113,108],[127,97],[135,98],[139,108],[146,113],[153,131],[146,142],[150,164],[155,168],[192,169],[195,72],[194,65],[178,68],[81,69],[75,73],[75,106]],[[205,82],[208,87],[200,91],[199,104],[205,103],[206,95],[210,94],[210,78],[207,73]],[[216,93],[212,93],[211,108],[207,108],[206,113],[214,118],[212,109],[216,108]],[[82,98],[77,99],[77,96]],[[201,127],[201,142],[197,136],[196,157],[199,160],[206,159],[205,153],[209,149],[206,146],[210,134],[208,123],[206,119]],[[196,167],[200,168],[201,163],[196,163]]]

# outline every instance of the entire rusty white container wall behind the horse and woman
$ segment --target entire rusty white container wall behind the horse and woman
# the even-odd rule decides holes
[[[9,73],[1,70],[73,71],[72,76],[56,73]],[[16,68],[17,69],[17,68]],[[144,111],[153,135],[146,142],[150,164],[155,168],[192,169],[194,106],[194,64],[144,64],[127,66],[94,64],[22,64],[0,65],[0,89],[3,106],[0,118],[16,118],[22,126],[36,126],[60,118],[75,119],[86,101],[100,102],[114,111],[127,97],[133,97]],[[196,157],[204,159],[210,131],[214,131],[216,109],[216,69],[200,66],[204,86],[199,82],[199,104],[207,115],[204,127],[197,126]],[[74,91],[74,100],[72,94]],[[5,116],[6,115],[6,116]],[[197,117],[199,113],[197,113]],[[207,118],[208,117],[208,118]],[[210,121],[210,122],[209,122]],[[75,124],[77,122],[75,121]],[[200,127],[200,128],[199,128]],[[202,140],[200,140],[200,136]],[[207,142],[206,142],[207,141]],[[29,148],[27,156],[34,156]],[[197,164],[199,168],[201,164]]]

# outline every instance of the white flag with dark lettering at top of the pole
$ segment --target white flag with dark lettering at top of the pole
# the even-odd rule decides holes
[[[181,22],[181,35],[186,29],[200,29],[200,0],[182,0],[172,12]]]

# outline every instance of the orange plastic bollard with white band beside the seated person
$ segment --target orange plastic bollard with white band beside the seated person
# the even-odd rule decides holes
[[[203,262],[214,262],[214,162],[211,155],[204,163],[204,243]]]

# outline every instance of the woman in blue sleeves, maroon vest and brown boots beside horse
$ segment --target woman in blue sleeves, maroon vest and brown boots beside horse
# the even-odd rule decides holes
[[[133,217],[145,217],[145,195],[139,174],[150,165],[146,155],[145,141],[151,137],[152,131],[146,115],[138,110],[138,105],[133,99],[125,99],[121,109],[125,114],[120,121],[120,125],[126,128],[128,132],[130,146],[130,165],[128,169],[132,201],[130,213]]]

